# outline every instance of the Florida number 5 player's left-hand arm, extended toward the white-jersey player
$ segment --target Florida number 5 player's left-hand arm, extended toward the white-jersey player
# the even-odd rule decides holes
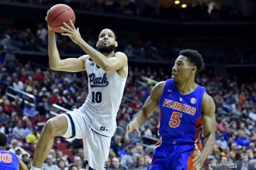
[[[164,91],[165,81],[161,81],[151,91],[151,95],[146,98],[146,101],[138,113],[134,115],[132,121],[127,125],[125,137],[128,138],[129,132],[136,130],[139,133],[141,127],[149,115],[157,108],[159,99]]]

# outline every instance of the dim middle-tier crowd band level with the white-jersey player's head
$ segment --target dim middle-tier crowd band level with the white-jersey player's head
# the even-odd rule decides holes
[[[7,28],[0,35],[0,50],[7,52],[43,52],[47,54],[48,31],[44,24],[39,23],[37,28]],[[80,29],[82,30],[82,29]],[[92,38],[92,36],[94,38]],[[97,35],[86,35],[89,45],[95,47]],[[83,52],[70,38],[56,34],[60,54],[81,55]],[[118,40],[118,50],[127,54],[131,60],[155,60],[157,62],[174,62],[184,45],[175,45],[174,42],[152,42],[151,40],[137,39],[131,42]],[[220,45],[218,47],[195,47],[210,64],[252,64],[256,63],[256,48],[254,45]]]

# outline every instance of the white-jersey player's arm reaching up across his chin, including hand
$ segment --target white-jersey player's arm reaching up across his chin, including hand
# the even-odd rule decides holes
[[[61,27],[61,30],[65,30],[65,33],[61,35],[68,36],[73,42],[79,45],[82,50],[84,50],[87,55],[89,55],[93,62],[95,62],[100,68],[104,69],[105,72],[110,72],[112,70],[119,70],[127,65],[127,55],[123,52],[116,52],[113,57],[107,58],[98,52],[93,47],[87,44],[85,40],[82,39],[79,28],[75,28],[73,22],[70,20],[71,25],[64,23],[65,28]]]

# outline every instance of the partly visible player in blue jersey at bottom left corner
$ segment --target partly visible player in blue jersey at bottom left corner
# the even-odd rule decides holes
[[[28,170],[20,157],[6,150],[7,136],[0,132],[0,170]]]

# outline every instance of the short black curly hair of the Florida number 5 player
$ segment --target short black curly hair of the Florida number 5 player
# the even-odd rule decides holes
[[[188,58],[188,61],[191,62],[194,66],[196,66],[196,74],[201,72],[204,67],[203,57],[197,50],[181,50],[178,55],[183,55]]]

